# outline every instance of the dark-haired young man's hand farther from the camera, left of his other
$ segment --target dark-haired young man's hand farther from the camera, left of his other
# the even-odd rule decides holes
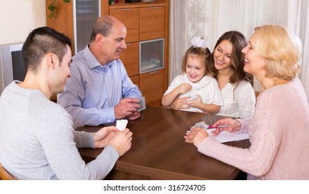
[[[112,136],[115,135],[115,132],[118,131],[119,130],[115,126],[101,128],[93,135],[94,147],[95,148],[106,147],[106,145],[108,145],[108,141],[110,141],[110,139],[112,139]]]

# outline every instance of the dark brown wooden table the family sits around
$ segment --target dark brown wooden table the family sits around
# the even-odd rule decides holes
[[[162,107],[149,107],[135,121],[128,122],[133,132],[131,150],[119,158],[106,179],[235,179],[241,170],[217,159],[207,157],[190,143],[185,132],[195,123],[212,125],[222,116],[185,112]],[[111,123],[110,125],[115,125]],[[98,127],[78,130],[97,132]],[[227,145],[249,148],[249,140]],[[86,162],[92,161],[102,149],[79,149]]]

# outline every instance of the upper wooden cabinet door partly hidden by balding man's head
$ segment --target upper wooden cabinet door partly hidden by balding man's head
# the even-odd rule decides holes
[[[123,8],[110,10],[110,15],[122,21],[126,26],[126,42],[138,41],[139,8]]]

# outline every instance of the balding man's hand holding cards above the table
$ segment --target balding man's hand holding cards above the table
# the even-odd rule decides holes
[[[115,118],[122,119],[127,116],[129,120],[133,120],[133,118],[140,117],[140,114],[137,114],[137,109],[140,108],[139,103],[140,99],[137,98],[123,98],[114,108]]]

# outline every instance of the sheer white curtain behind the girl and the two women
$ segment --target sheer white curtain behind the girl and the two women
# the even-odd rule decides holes
[[[303,70],[299,75],[309,96],[309,3],[307,0],[171,0],[169,83],[181,74],[181,60],[190,39],[200,35],[213,51],[217,39],[238,30],[248,39],[256,26],[278,24],[299,35],[303,43]],[[260,90],[255,81],[254,89]],[[308,100],[309,101],[309,100]]]

